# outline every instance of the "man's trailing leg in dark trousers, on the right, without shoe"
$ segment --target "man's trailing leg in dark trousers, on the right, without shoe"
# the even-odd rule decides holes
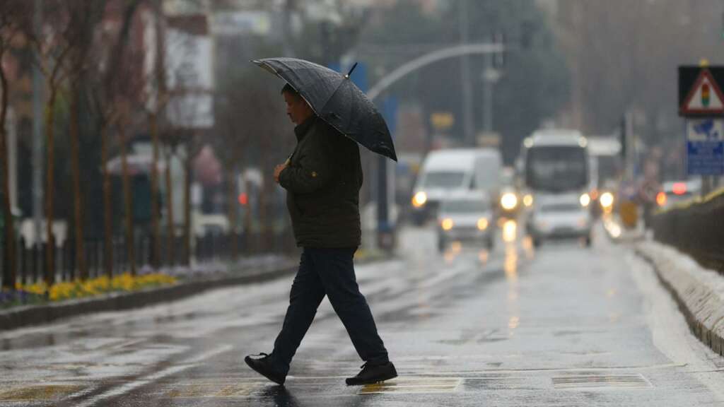
[[[372,313],[357,285],[355,249],[318,248],[310,249],[308,253],[329,302],[342,319],[360,358],[369,364],[387,363],[387,349],[377,334]]]

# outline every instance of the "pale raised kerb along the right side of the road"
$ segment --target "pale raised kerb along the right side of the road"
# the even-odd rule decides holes
[[[641,244],[634,250],[651,264],[659,281],[678,303],[691,332],[712,351],[724,356],[724,299],[701,281],[677,270],[665,256],[657,256]]]

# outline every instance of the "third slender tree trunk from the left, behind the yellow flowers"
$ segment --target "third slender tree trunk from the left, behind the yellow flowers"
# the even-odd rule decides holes
[[[88,279],[88,267],[85,264],[85,249],[83,247],[83,202],[80,200],[80,158],[78,146],[78,93],[80,90],[75,86],[72,89],[70,109],[70,153],[73,177],[73,209],[75,224],[75,264],[78,267],[77,277],[84,281]]]

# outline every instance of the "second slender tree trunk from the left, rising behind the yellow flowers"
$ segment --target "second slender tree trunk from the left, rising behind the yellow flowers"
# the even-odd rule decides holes
[[[53,196],[55,184],[55,143],[53,121],[55,117],[55,98],[57,89],[50,86],[50,98],[46,106],[46,149],[48,150],[48,166],[46,167],[46,287],[55,283],[55,239],[53,237]]]

